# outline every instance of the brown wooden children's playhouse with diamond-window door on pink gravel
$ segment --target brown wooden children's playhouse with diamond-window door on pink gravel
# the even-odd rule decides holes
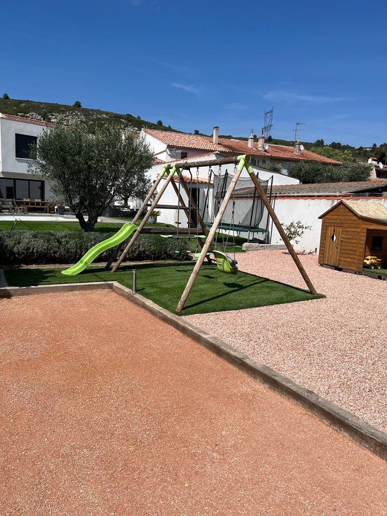
[[[372,255],[387,268],[387,208],[380,202],[343,200],[318,218],[320,265],[362,271],[364,257]]]

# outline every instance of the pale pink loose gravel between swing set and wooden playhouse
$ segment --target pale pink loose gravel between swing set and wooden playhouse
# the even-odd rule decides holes
[[[326,299],[185,318],[387,431],[387,283],[300,260]],[[238,266],[305,288],[283,251],[238,254]]]

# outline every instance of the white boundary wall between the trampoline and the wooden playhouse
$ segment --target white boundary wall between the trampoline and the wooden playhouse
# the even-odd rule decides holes
[[[352,198],[357,200],[356,197]],[[315,252],[320,246],[321,219],[318,217],[334,206],[340,199],[281,199],[275,200],[273,208],[281,223],[301,221],[304,225],[312,226],[312,230],[306,230],[299,244],[294,244],[296,251]],[[369,198],[359,199],[358,202],[380,202],[387,207],[387,199]],[[271,231],[271,244],[282,244],[282,239],[270,221],[269,230]]]

